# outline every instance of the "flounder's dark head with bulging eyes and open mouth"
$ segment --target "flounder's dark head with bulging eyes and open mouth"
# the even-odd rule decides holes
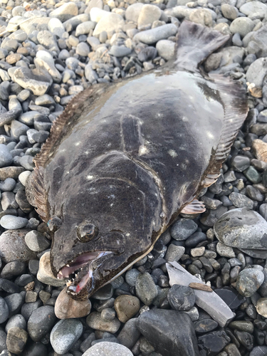
[[[73,186],[61,213],[48,221],[52,271],[57,278],[73,276],[67,293],[76,300],[90,297],[152,246],[145,197],[137,187],[112,178],[83,183]]]

